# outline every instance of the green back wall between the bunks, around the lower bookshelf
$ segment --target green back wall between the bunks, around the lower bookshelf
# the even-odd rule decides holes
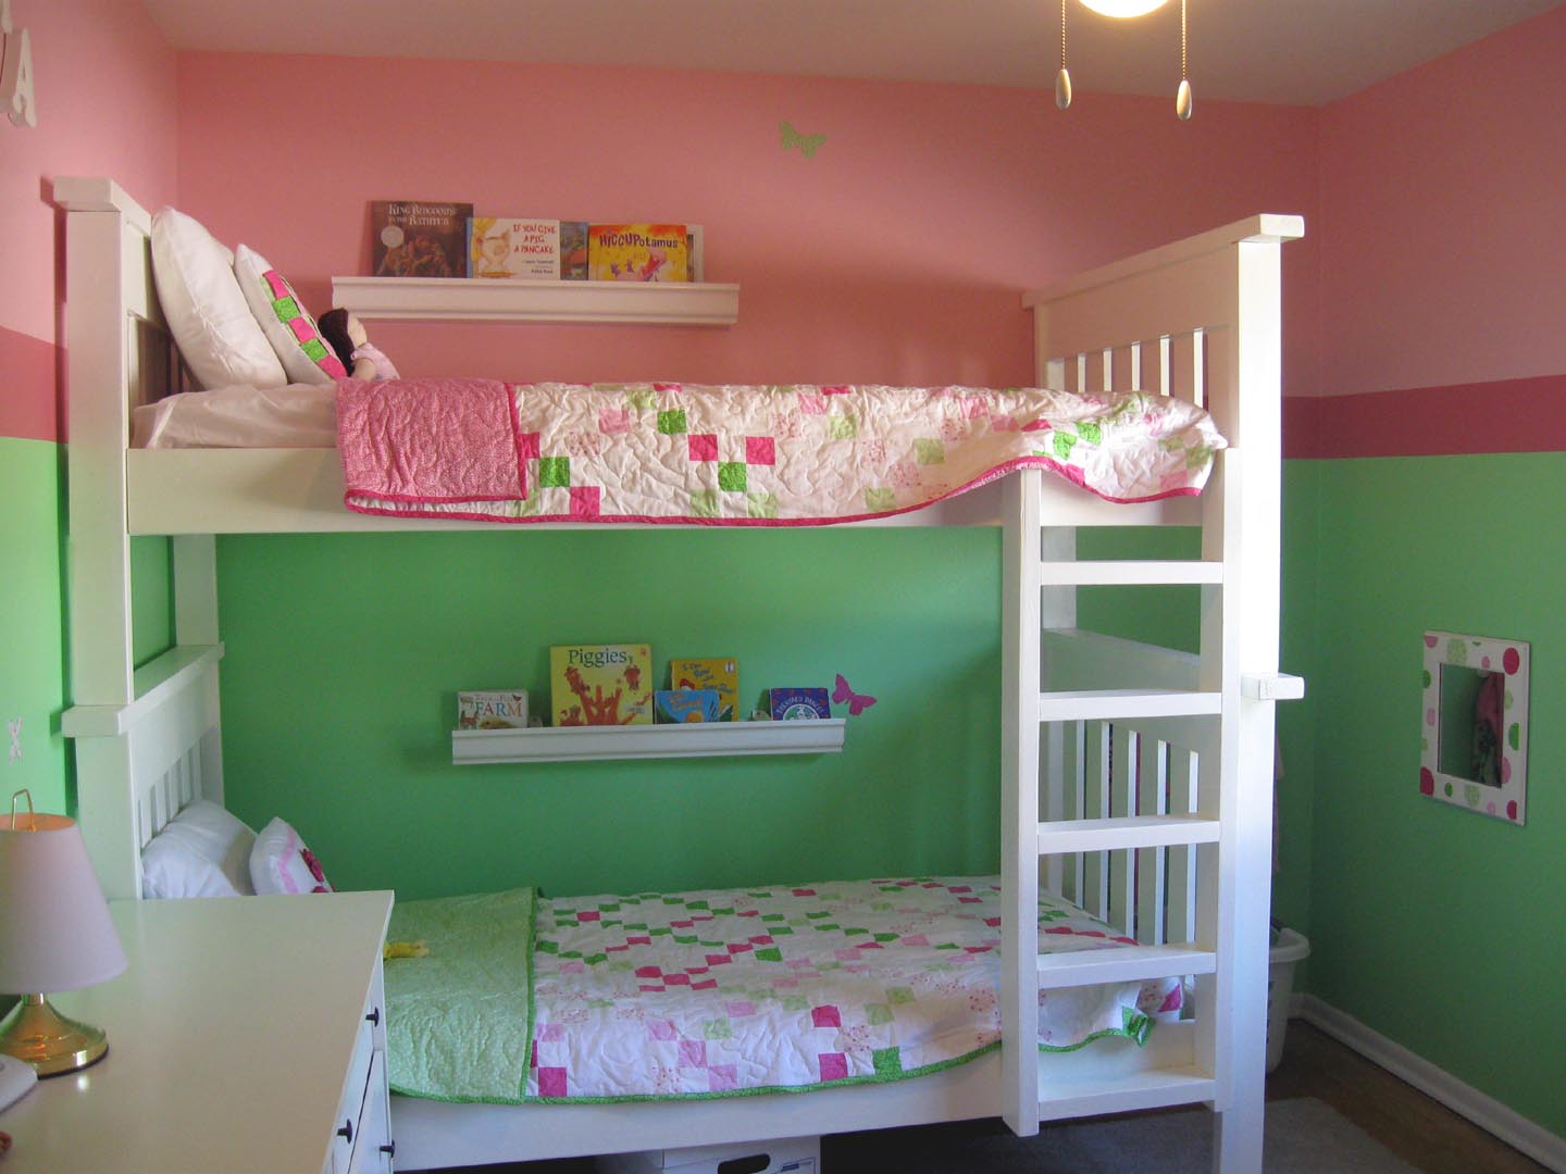
[[[230,806],[402,899],[999,869],[999,531],[619,531],[219,542]],[[841,754],[453,767],[459,689],[548,648],[843,673]]]

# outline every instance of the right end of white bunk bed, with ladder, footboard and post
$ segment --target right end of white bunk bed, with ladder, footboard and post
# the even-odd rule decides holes
[[[1026,1135],[1041,1118],[1206,1102],[1221,1174],[1261,1169],[1272,703],[1303,693],[1278,673],[1279,246],[1301,232],[1262,216],[1135,274],[1024,296],[1043,385],[1212,413],[1228,448],[1198,559],[1079,562],[1074,531],[1043,528],[1038,473],[1009,479],[1002,515],[1004,1116]],[[1076,629],[1079,587],[1134,584],[1200,590],[1198,656]],[[1137,944],[1040,960],[1041,859],[1045,888]],[[1187,977],[1190,1017],[1159,1024],[1151,1055],[1107,1049],[1121,1079],[1096,1060],[1040,1064],[1041,991]]]

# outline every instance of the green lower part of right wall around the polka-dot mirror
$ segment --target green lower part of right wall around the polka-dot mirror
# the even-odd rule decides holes
[[[1286,637],[1319,650],[1314,823],[1289,828],[1309,989],[1566,1135],[1566,454],[1290,462],[1311,477],[1319,534],[1287,538],[1319,606]],[[1419,794],[1427,629],[1532,643],[1527,826]]]

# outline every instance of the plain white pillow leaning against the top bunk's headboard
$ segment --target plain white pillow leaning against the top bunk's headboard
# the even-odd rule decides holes
[[[152,218],[152,277],[185,365],[205,388],[288,382],[233,275],[233,254],[174,208]]]

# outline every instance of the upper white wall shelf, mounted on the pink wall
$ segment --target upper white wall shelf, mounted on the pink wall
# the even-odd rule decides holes
[[[332,305],[381,321],[733,326],[739,321],[739,286],[711,282],[334,277]]]

